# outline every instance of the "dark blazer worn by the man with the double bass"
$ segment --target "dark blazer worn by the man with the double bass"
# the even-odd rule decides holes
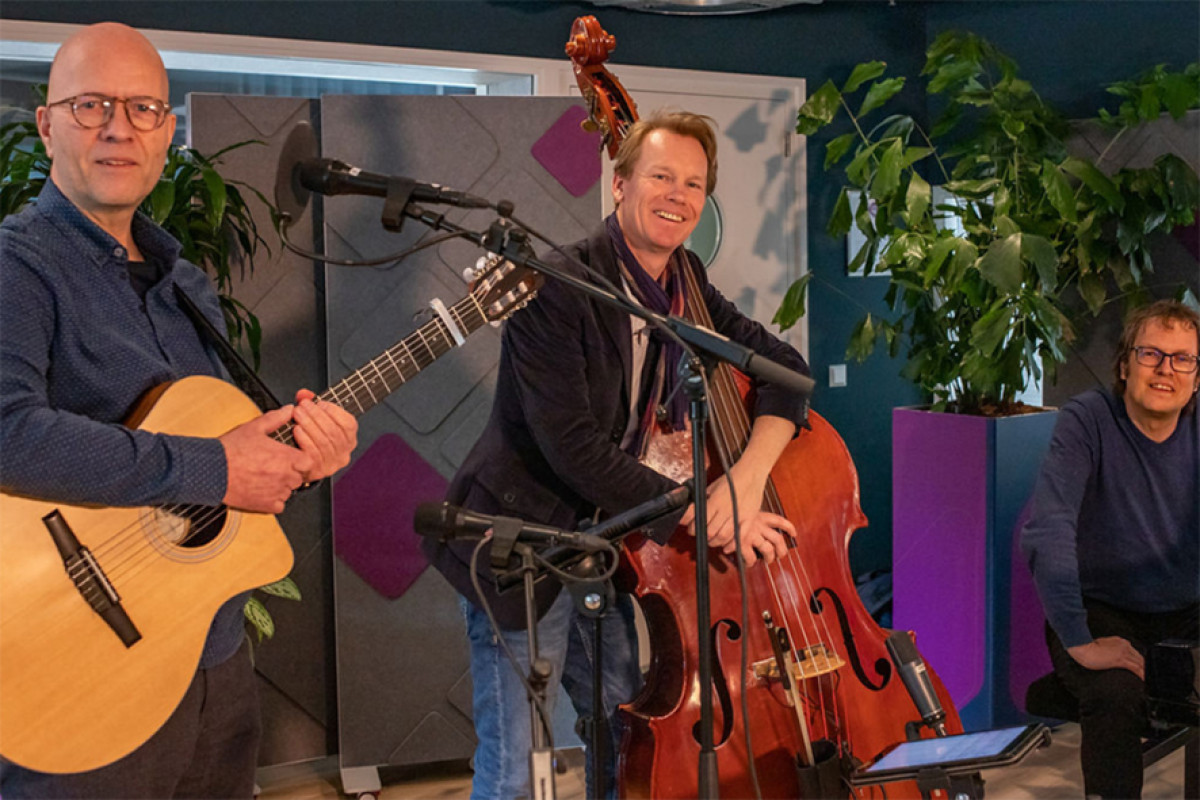
[[[566,249],[620,284],[602,225]],[[574,275],[582,272],[558,255],[546,260]],[[808,374],[808,365],[792,347],[725,300],[708,283],[698,258],[689,253],[689,261],[719,332]],[[574,530],[598,509],[618,513],[674,488],[674,481],[620,449],[629,422],[631,348],[624,312],[547,278],[538,297],[505,323],[492,416],[451,481],[446,500],[487,515]],[[803,421],[803,398],[763,383],[756,383],[755,397],[755,416]],[[666,525],[665,536],[673,528]],[[469,573],[474,542],[425,540],[422,547],[450,583],[478,602]],[[485,547],[479,565],[485,587],[491,581],[487,557]],[[560,588],[557,581],[541,581],[541,610]],[[500,625],[524,626],[520,588],[498,597],[488,591],[488,600]]]

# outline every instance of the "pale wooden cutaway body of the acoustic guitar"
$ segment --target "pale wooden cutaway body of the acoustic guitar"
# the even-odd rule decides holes
[[[236,387],[191,377],[151,392],[130,425],[218,437],[259,414]],[[67,575],[42,519],[55,510],[120,596],[140,633],[133,644]],[[0,754],[44,772],[91,770],[126,756],[182,699],[221,604],[290,571],[292,548],[274,516],[199,510],[202,518],[181,523],[162,509],[0,493]],[[203,535],[194,535],[202,519]]]

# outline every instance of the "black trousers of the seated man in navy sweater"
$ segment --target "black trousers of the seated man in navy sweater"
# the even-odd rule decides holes
[[[1163,639],[1200,639],[1200,607],[1140,614],[1084,599],[1094,638],[1120,636],[1144,656]],[[1128,669],[1086,669],[1046,625],[1055,672],[1079,699],[1084,792],[1104,800],[1141,796],[1141,738],[1146,733],[1146,685]]]

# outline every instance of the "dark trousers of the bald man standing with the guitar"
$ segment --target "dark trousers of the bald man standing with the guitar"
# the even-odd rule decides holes
[[[224,663],[197,670],[179,708],[128,756],[70,775],[0,763],[0,796],[248,800],[263,729],[257,680],[250,645],[242,643]]]

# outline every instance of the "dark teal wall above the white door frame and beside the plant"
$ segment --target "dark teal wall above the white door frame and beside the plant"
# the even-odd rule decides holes
[[[1194,0],[1038,0],[906,2],[826,0],[752,14],[666,17],[587,2],[406,0],[289,2],[204,0],[5,0],[0,18],[90,23],[118,19],[139,28],[280,36],[474,50],[558,59],[571,22],[598,14],[618,37],[612,65],[664,66],[804,77],[810,90],[842,79],[862,60],[880,59],[916,74],[925,43],[960,28],[990,38],[1021,74],[1069,116],[1090,116],[1108,83],[1154,64],[1200,59],[1200,4]],[[920,115],[908,92],[907,110]],[[1111,107],[1111,103],[1110,103]],[[833,132],[832,134],[835,134]],[[822,169],[822,139],[810,142],[809,266],[814,374],[845,361],[847,335],[865,309],[886,312],[882,281],[845,275],[845,246],[824,234],[838,185]],[[890,565],[890,409],[919,402],[899,378],[900,361],[876,356],[850,365],[846,389],[821,389],[817,409],[839,429],[858,464],[871,524],[853,540],[856,572]]]

